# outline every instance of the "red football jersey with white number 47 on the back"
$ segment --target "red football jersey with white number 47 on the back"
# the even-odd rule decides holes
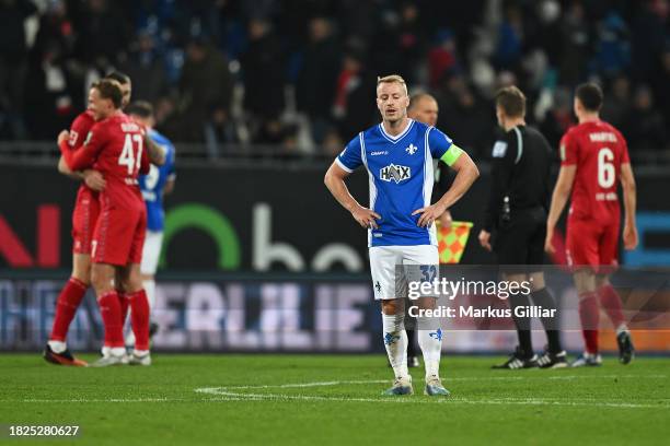
[[[61,148],[72,171],[93,167],[103,174],[106,186],[103,202],[123,209],[143,208],[137,177],[149,172],[149,156],[143,150],[145,132],[128,116],[118,113],[96,122],[81,150]]]

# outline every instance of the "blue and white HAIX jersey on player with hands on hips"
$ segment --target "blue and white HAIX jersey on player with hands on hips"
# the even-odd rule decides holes
[[[381,215],[379,228],[368,230],[369,246],[437,245],[435,225],[417,226],[417,209],[430,204],[432,159],[458,149],[440,130],[408,120],[397,136],[381,124],[360,132],[337,156],[347,172],[365,166],[370,178],[370,209]]]

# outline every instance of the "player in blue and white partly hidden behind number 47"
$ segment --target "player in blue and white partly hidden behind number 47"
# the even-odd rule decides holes
[[[126,113],[130,117],[143,125],[149,138],[165,152],[165,164],[160,167],[151,165],[149,174],[139,177],[140,189],[147,206],[147,237],[142,249],[142,262],[140,272],[142,274],[142,283],[147,292],[149,307],[153,308],[155,302],[155,270],[158,268],[159,257],[161,255],[161,245],[163,242],[163,223],[165,212],[163,210],[163,196],[171,193],[174,189],[176,174],[174,171],[174,145],[168,138],[153,129],[153,107],[151,104],[138,101],[130,104],[126,108]],[[158,330],[155,322],[151,322],[150,333],[153,334]],[[132,345],[135,339],[132,331],[126,337],[126,345]]]

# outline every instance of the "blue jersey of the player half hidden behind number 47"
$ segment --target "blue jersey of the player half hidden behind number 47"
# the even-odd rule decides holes
[[[140,175],[139,185],[147,203],[147,230],[163,231],[165,212],[163,210],[163,188],[168,179],[174,178],[174,145],[158,131],[151,129],[149,137],[165,151],[165,164],[158,167],[151,164],[149,174]]]

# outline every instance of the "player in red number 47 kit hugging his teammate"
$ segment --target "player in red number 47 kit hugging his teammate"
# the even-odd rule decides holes
[[[149,304],[142,289],[141,260],[147,214],[137,178],[149,172],[149,156],[143,148],[145,131],[120,111],[123,93],[112,80],[95,83],[89,94],[89,109],[96,124],[81,150],[67,145],[69,132],[58,136],[58,144],[68,167],[81,171],[95,167],[105,178],[100,192],[100,215],[91,242],[91,280],[105,327],[109,354],[93,365],[106,366],[127,361],[123,336],[123,309],[115,281],[125,291],[132,309],[136,336],[131,363],[148,365]]]

